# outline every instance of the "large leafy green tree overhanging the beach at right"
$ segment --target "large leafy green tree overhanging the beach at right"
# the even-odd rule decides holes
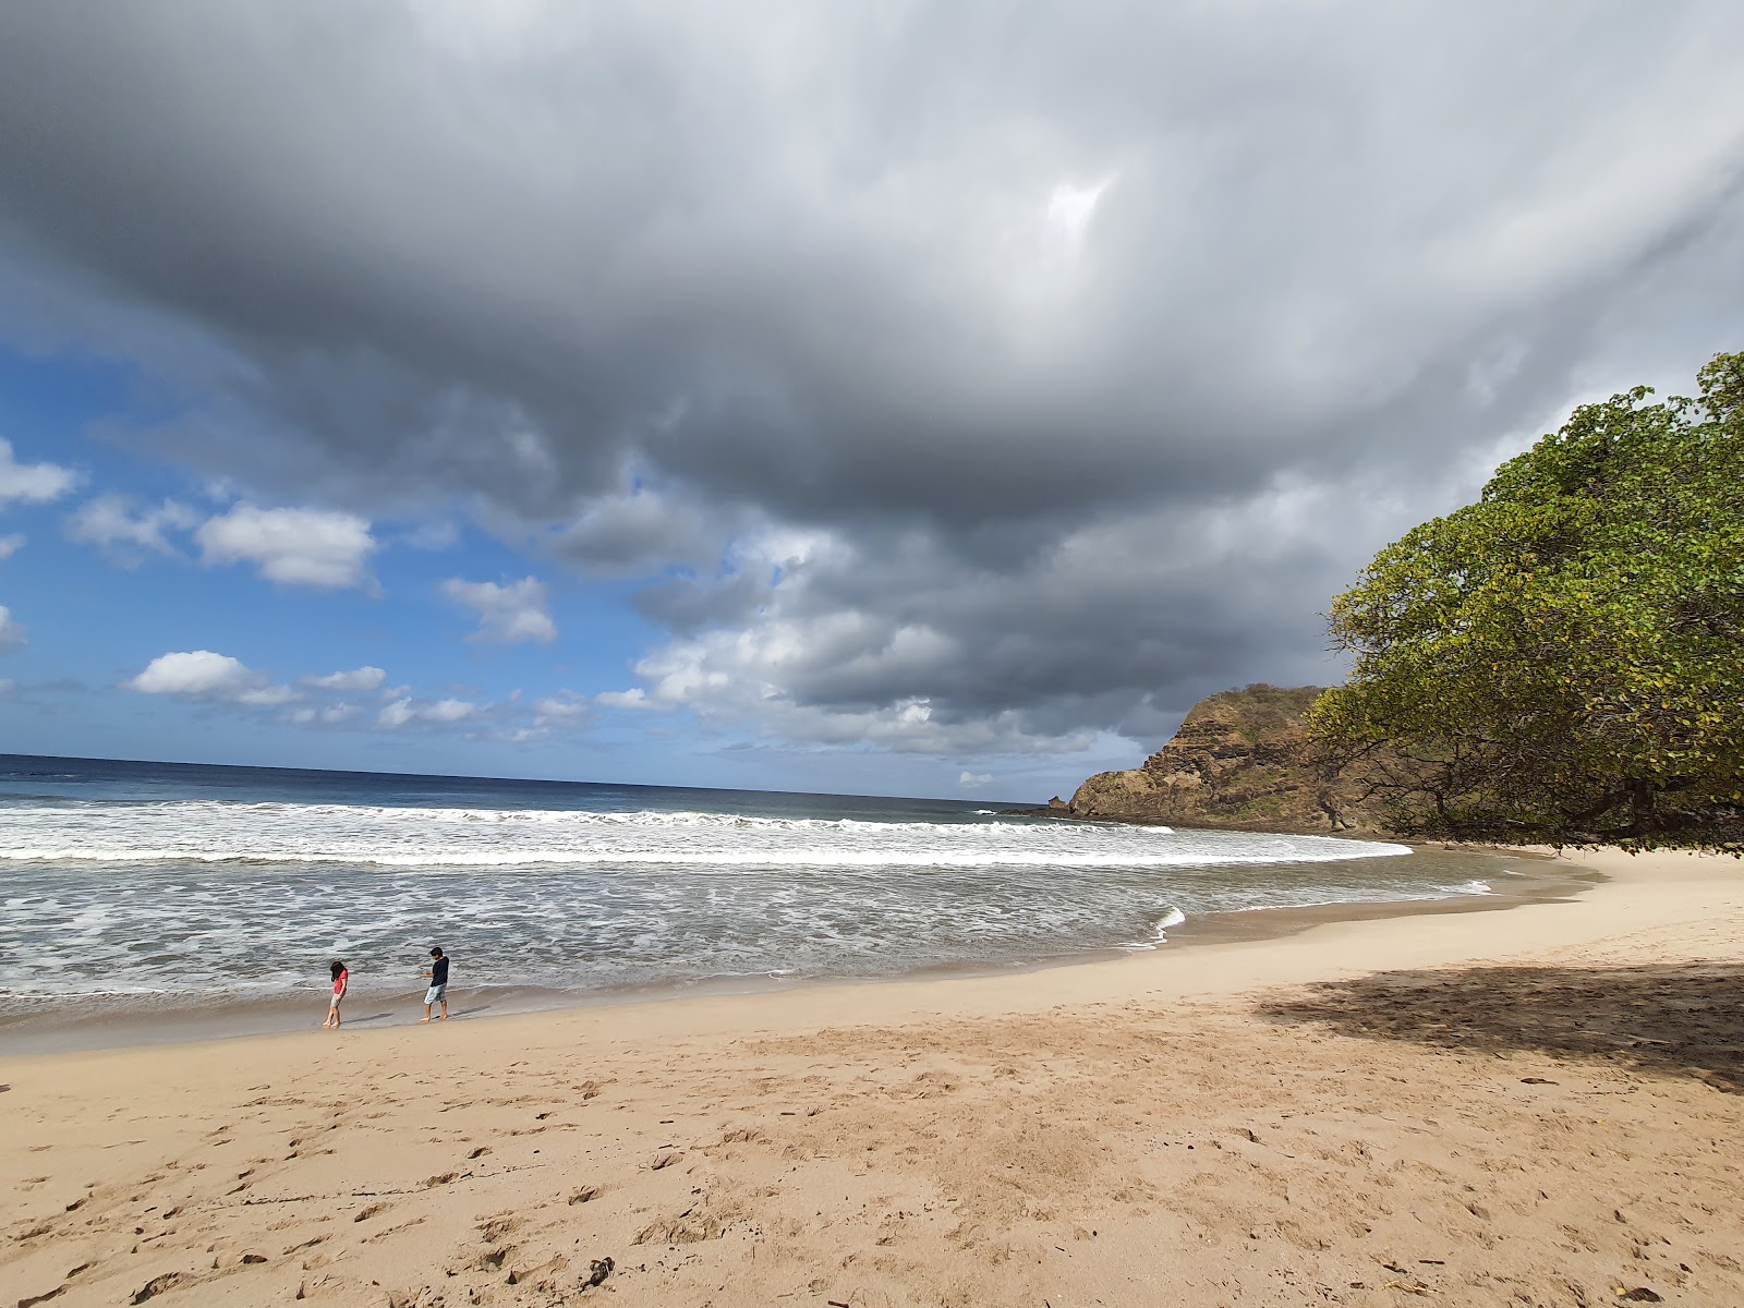
[[[1744,354],[1584,405],[1332,602],[1322,767],[1406,835],[1744,849]]]

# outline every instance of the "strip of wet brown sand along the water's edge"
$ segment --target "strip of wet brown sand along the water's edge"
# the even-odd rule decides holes
[[[1416,853],[1439,853],[1446,846],[1411,846]],[[502,1020],[513,1017],[549,1013],[589,1013],[596,1010],[642,1008],[649,1005],[685,1003],[696,999],[757,999],[760,996],[804,994],[809,991],[855,992],[877,985],[933,985],[964,980],[992,980],[1052,973],[1085,966],[1121,964],[1156,952],[1179,952],[1236,942],[1280,940],[1336,923],[1388,921],[1418,916],[1446,916],[1470,912],[1507,912],[1510,909],[1564,900],[1584,893],[1592,875],[1577,863],[1563,865],[1545,851],[1536,849],[1472,849],[1514,858],[1529,872],[1509,872],[1496,886],[1488,881],[1488,893],[1451,895],[1423,900],[1332,902],[1291,907],[1243,909],[1210,912],[1188,917],[1167,928],[1153,947],[1109,945],[1102,950],[1066,954],[1043,959],[1013,961],[1006,964],[949,964],[930,966],[895,977],[795,977],[792,980],[769,975],[712,977],[696,982],[666,985],[640,985],[612,991],[567,991],[537,985],[476,985],[455,987],[450,992],[452,1018]],[[1467,851],[1467,853],[1472,853]],[[424,987],[399,992],[354,992],[352,1012],[345,1027],[358,1032],[391,1031],[420,1025]],[[0,1017],[0,1059],[23,1059],[58,1053],[85,1053],[105,1050],[131,1050],[173,1046],[187,1043],[248,1039],[255,1036],[284,1036],[319,1025],[309,1013],[324,1013],[324,987],[310,987],[303,996],[272,996],[265,999],[220,999],[166,1003],[162,1006],[113,1005],[80,1010],[72,1005],[45,1005],[40,1013]]]

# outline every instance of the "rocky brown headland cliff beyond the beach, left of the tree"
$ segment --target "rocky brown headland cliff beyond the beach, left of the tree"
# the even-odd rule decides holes
[[[1317,685],[1249,685],[1202,699],[1142,767],[1099,773],[1078,787],[1078,818],[1224,830],[1374,834],[1350,785],[1315,776],[1303,713]]]

